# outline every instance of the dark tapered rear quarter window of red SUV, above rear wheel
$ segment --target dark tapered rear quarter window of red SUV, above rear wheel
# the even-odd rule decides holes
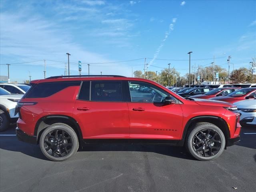
[[[35,84],[28,90],[25,98],[44,98],[51,96],[67,87],[79,86],[81,82],[49,82]]]

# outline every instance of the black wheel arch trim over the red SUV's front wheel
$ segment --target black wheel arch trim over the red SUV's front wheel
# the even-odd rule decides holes
[[[227,140],[228,140],[228,138],[230,138],[230,131],[228,128],[228,124],[224,119],[222,119],[218,116],[196,116],[196,117],[191,118],[190,120],[188,120],[188,122],[186,123],[186,125],[184,127],[181,140],[185,141],[189,132],[193,129],[193,126],[199,122],[208,122],[208,123],[212,123],[212,124],[218,126],[218,128],[220,128],[220,130],[222,130],[222,132],[225,136],[225,139],[226,139],[226,144],[227,144]]]

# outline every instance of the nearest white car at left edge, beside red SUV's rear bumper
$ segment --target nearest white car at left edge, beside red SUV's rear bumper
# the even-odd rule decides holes
[[[22,96],[22,94],[11,94],[0,87],[0,132],[6,130],[11,122],[18,120],[15,108]]]

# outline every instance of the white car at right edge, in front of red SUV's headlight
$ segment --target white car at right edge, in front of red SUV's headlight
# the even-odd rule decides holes
[[[234,103],[240,113],[240,124],[256,128],[256,98]]]

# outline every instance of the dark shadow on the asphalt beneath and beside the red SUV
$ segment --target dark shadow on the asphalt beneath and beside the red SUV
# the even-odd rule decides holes
[[[14,133],[15,128],[11,128],[12,130],[8,130],[8,132],[2,132],[2,134],[12,134]],[[242,132],[254,131],[251,129],[243,130]],[[241,132],[241,142],[239,142],[238,146],[244,146],[248,148],[256,148],[255,144],[255,135],[244,135]],[[47,160],[42,152],[40,151],[40,147],[38,145],[28,144],[19,141],[16,136],[5,137],[1,136],[0,138],[0,148],[3,150],[21,152],[28,156],[32,156],[34,158]],[[152,152],[166,156],[172,156],[176,158],[195,160],[188,154],[184,147],[176,147],[169,146],[164,144],[86,144],[83,148],[78,150],[79,152],[102,152],[102,151],[128,151],[128,152]],[[256,155],[254,156],[256,160]]]

